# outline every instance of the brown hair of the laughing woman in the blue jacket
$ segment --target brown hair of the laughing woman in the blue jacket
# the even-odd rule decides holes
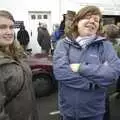
[[[81,19],[84,19],[85,16],[87,15],[99,15],[100,16],[100,26],[99,26],[99,30],[101,28],[101,18],[102,18],[102,14],[101,14],[101,11],[98,7],[96,6],[86,6],[82,9],[80,9],[78,11],[78,13],[76,14],[76,16],[74,17],[74,20],[72,22],[72,25],[69,29],[69,32],[67,33],[67,36],[70,37],[70,38],[76,38],[77,36],[79,36],[79,33],[78,33],[78,22],[81,20]],[[99,32],[98,30],[98,32]]]

